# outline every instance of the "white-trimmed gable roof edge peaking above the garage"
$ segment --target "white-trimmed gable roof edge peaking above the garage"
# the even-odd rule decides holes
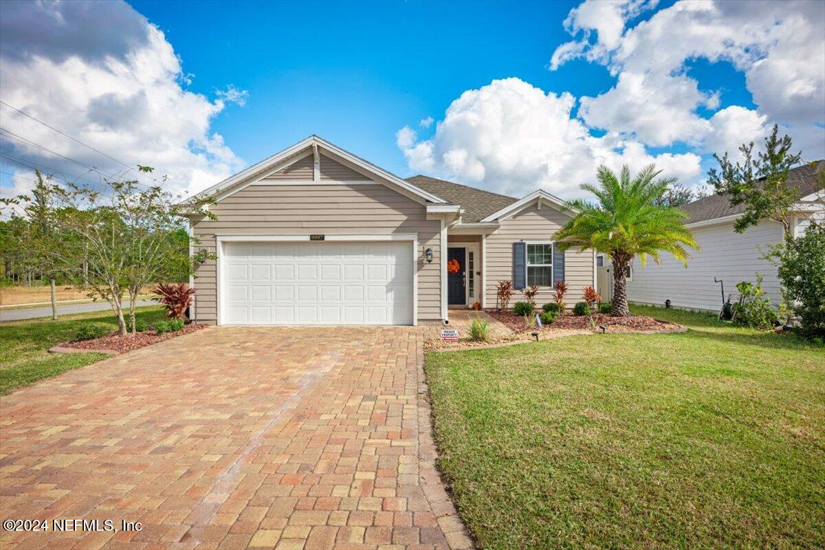
[[[265,177],[270,178],[273,174],[281,173],[281,171],[285,171],[294,165],[297,165],[295,170],[304,169],[305,171],[305,167],[303,167],[303,164],[299,164],[299,162],[305,162],[304,159],[309,157],[314,166],[316,151],[318,152],[319,161],[322,165],[323,157],[327,157],[328,161],[335,162],[340,165],[341,168],[346,169],[342,171],[341,168],[336,168],[330,172],[330,174],[334,172],[337,174],[343,174],[347,176],[347,178],[350,178],[349,180],[344,181],[351,181],[351,178],[355,177],[352,176],[352,174],[358,174],[358,179],[360,180],[375,180],[377,183],[389,186],[394,190],[398,190],[403,195],[407,195],[411,199],[417,200],[422,204],[427,202],[446,204],[447,202],[441,197],[420,189],[409,181],[405,181],[398,176],[385,171],[383,168],[377,167],[375,164],[367,162],[363,158],[357,157],[356,155],[349,153],[344,149],[333,145],[332,143],[329,143],[325,139],[319,138],[317,135],[311,135],[309,138],[303,139],[302,141],[295,143],[295,145],[285,148],[280,153],[276,153],[261,162],[257,162],[257,164],[253,164],[243,172],[238,172],[234,176],[230,176],[224,181],[211,186],[209,189],[201,191],[199,194],[191,198],[191,202],[196,203],[207,198],[221,200],[255,181],[260,181]],[[331,169],[332,165],[327,162],[327,167]],[[361,176],[361,174],[369,176]],[[312,179],[313,178],[310,178],[310,180]],[[332,180],[332,176],[329,177],[328,181],[330,180]]]

